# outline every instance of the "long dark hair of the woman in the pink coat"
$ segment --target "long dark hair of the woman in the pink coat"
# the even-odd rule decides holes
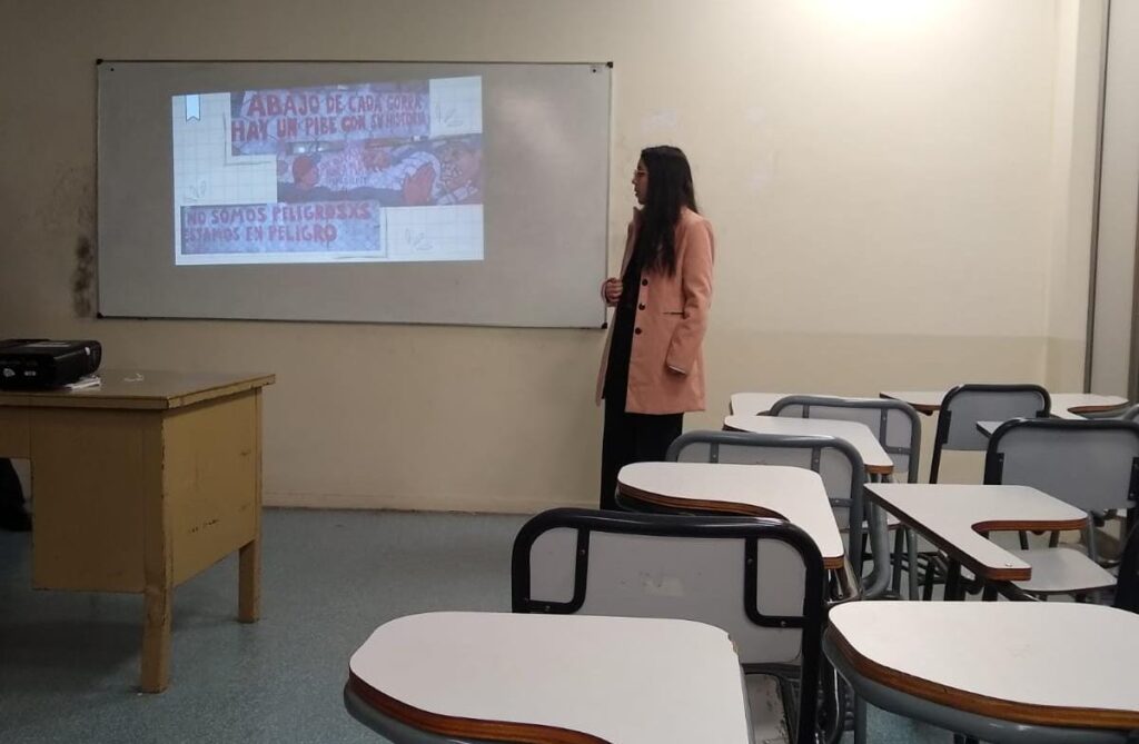
[[[641,210],[640,230],[637,234],[637,251],[642,251],[645,267],[677,272],[677,223],[680,210],[696,209],[696,188],[693,186],[693,170],[688,158],[679,147],[661,145],[641,150],[641,163],[648,172],[648,194]]]

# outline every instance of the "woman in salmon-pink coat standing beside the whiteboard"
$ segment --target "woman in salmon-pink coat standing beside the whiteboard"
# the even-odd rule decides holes
[[[693,172],[675,147],[641,150],[621,278],[601,285],[616,308],[601,357],[601,508],[616,508],[617,471],[663,460],[686,411],[704,410],[702,343],[712,299],[712,226],[697,213]]]

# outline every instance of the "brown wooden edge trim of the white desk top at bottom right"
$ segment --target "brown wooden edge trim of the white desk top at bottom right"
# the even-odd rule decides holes
[[[871,661],[858,653],[835,626],[835,646],[860,674],[880,685],[941,705],[1015,723],[1068,726],[1073,728],[1133,729],[1139,727],[1139,711],[1100,708],[1060,708],[989,697],[956,687],[931,682],[919,677]]]

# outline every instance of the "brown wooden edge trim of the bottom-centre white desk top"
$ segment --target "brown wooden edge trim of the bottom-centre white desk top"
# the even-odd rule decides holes
[[[349,671],[349,686],[369,705],[409,726],[440,734],[518,744],[611,744],[604,738],[568,728],[542,723],[518,723],[445,716],[408,705],[385,695]]]

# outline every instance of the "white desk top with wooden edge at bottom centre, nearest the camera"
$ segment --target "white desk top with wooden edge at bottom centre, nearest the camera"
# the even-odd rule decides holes
[[[560,737],[542,741],[751,741],[731,639],[687,620],[410,615],[380,626],[349,669],[380,712],[449,736],[554,727]]]

